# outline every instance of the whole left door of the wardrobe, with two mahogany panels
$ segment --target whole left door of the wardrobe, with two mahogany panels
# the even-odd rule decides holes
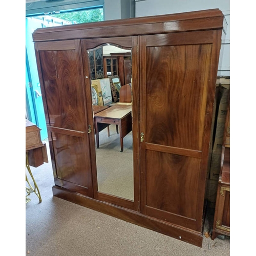
[[[87,98],[79,40],[36,42],[55,185],[92,196]]]

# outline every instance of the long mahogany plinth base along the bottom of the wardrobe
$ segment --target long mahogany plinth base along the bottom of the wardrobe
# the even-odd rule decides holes
[[[200,232],[160,221],[158,219],[145,216],[137,211],[129,210],[110,203],[101,202],[81,194],[73,193],[70,190],[59,186],[53,186],[52,190],[53,196],[55,197],[102,212],[103,214],[110,215],[144,228],[154,230],[189,244],[202,247],[203,236]]]

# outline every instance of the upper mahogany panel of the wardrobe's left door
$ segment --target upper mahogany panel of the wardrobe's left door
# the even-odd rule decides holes
[[[75,50],[39,53],[50,126],[84,132],[84,99]]]

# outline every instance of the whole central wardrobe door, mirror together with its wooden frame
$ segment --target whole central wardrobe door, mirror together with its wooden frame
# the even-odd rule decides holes
[[[81,40],[87,95],[91,90],[94,198],[139,210],[136,46],[137,37]]]

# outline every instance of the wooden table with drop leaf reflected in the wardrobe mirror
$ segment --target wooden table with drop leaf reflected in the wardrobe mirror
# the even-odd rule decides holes
[[[96,144],[99,148],[99,132],[110,124],[119,126],[121,152],[123,152],[123,138],[132,131],[132,106],[116,104],[94,115]]]

